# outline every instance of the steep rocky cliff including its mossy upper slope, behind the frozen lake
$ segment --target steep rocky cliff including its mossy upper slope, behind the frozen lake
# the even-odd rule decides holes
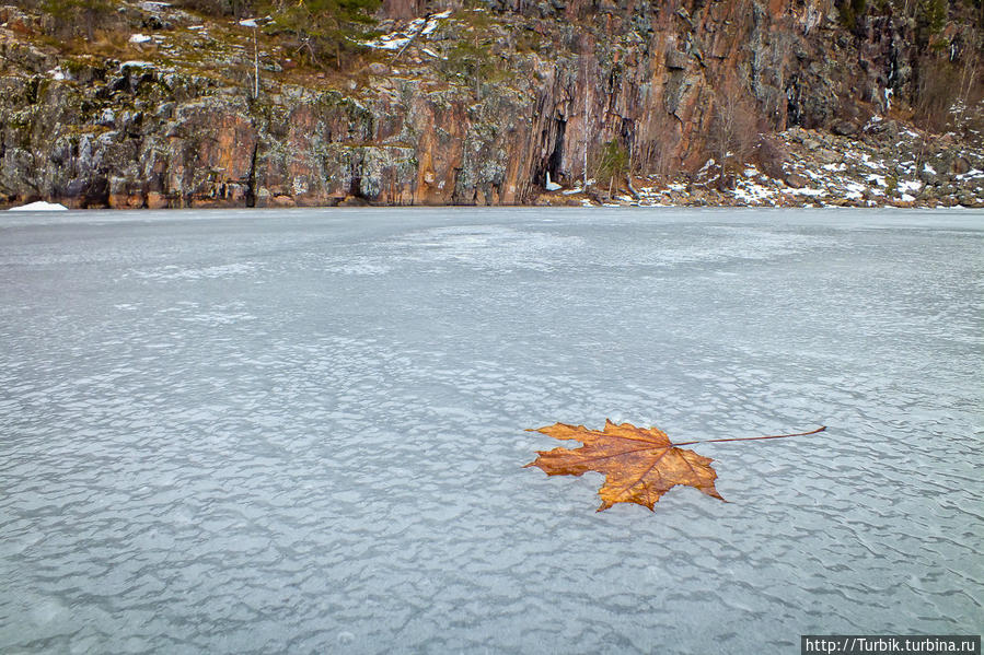
[[[848,28],[830,1],[394,0],[368,54],[325,73],[276,31],[114,4],[123,40],[86,47],[56,43],[63,26],[40,10],[0,8],[0,202],[512,204],[541,198],[547,176],[567,188],[600,173],[597,194],[630,175],[742,201],[733,177],[749,162],[797,187],[789,150],[804,137],[790,128],[831,150],[904,125],[926,94],[924,52],[944,43],[964,71],[944,112],[961,112],[963,131],[950,121],[949,136],[901,150],[898,128],[882,140],[899,171],[945,176],[944,196],[984,195],[959,177],[984,168],[973,9],[921,46],[916,21]]]

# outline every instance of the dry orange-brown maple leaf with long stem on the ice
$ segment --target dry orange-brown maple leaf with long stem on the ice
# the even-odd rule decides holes
[[[681,448],[696,443],[730,441],[754,441],[761,438],[784,438],[822,432],[777,434],[742,438],[715,438],[706,442],[670,443],[667,433],[658,428],[636,428],[630,423],[616,425],[605,419],[604,431],[588,430],[583,425],[555,423],[528,432],[542,432],[547,436],[579,441],[579,448],[554,448],[537,451],[535,466],[548,476],[580,476],[587,471],[605,475],[605,483],[598,490],[601,496],[599,512],[615,503],[637,503],[651,511],[662,494],[678,484],[699,489],[707,495],[725,500],[714,487],[717,472],[710,466],[709,457]]]

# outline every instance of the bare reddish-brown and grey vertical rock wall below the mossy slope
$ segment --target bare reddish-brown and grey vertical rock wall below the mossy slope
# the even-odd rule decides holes
[[[383,17],[397,25],[417,4],[387,2]],[[912,84],[905,22],[847,34],[830,1],[487,9],[505,45],[488,45],[498,70],[484,79],[435,72],[448,66],[440,48],[468,33],[452,14],[405,62],[373,62],[355,87],[270,73],[254,98],[248,83],[153,61],[69,67],[25,43],[11,28],[24,21],[4,8],[0,60],[14,74],[0,78],[0,202],[526,203],[547,173],[565,186],[584,177],[586,150],[593,175],[610,141],[637,171],[699,168],[729,95],[748,98],[760,131],[849,134]],[[539,49],[513,43],[524,30]]]

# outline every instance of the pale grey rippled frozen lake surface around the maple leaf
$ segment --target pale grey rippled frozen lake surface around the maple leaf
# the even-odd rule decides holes
[[[984,625],[984,213],[0,218],[0,651],[798,653]],[[522,465],[605,418],[678,488]]]

